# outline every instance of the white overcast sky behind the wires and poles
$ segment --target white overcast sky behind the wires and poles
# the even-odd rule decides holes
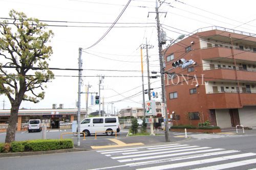
[[[105,79],[102,83],[104,90],[101,90],[104,101],[114,102],[113,106],[120,110],[127,106],[141,106],[142,93],[138,95],[142,90],[141,72],[139,71],[141,70],[140,45],[145,44],[146,38],[149,44],[154,45],[154,48],[149,50],[150,70],[159,71],[156,15],[150,13],[147,17],[148,12],[155,11],[154,0],[132,0],[115,27],[98,44],[88,48],[109,29],[127,2],[128,0],[0,0],[0,17],[9,17],[9,11],[14,9],[24,12],[28,17],[40,20],[69,21],[46,22],[52,25],[49,29],[55,34],[50,43],[53,47],[50,67],[78,68],[78,48],[82,47],[84,49],[82,52],[83,69],[119,70],[83,70],[82,76],[90,77],[82,78],[82,91],[84,92],[85,85],[90,83],[92,85],[90,91],[98,92],[99,78],[96,76],[104,75]],[[180,0],[178,2],[166,0],[165,2],[167,4],[163,4],[160,11],[167,12],[167,14],[166,17],[164,14],[161,15],[160,23],[170,38],[176,39],[180,34],[188,35],[197,29],[210,26],[256,33],[256,20],[254,20],[256,19],[256,1]],[[144,70],[146,70],[145,52],[143,50]],[[64,108],[75,108],[78,78],[63,76],[78,76],[78,71],[53,71],[56,77],[47,84],[45,99],[38,104],[24,101],[20,108],[51,108],[52,104],[64,104]],[[146,74],[147,72],[144,71],[144,76]],[[151,79],[151,82],[152,87],[155,88],[154,91],[160,92],[160,78]],[[146,89],[147,78],[144,78],[144,83]],[[135,97],[131,100],[115,102],[129,96]],[[85,108],[85,94],[81,94],[81,99],[81,107]],[[148,99],[147,95],[145,99]],[[5,109],[9,109],[11,105],[4,95],[0,95],[0,109],[3,109],[4,100]],[[91,106],[90,103],[89,101],[89,106],[93,110],[98,110],[98,106]],[[105,110],[107,108],[108,105],[105,105]],[[111,105],[109,105],[109,110],[111,110]]]

